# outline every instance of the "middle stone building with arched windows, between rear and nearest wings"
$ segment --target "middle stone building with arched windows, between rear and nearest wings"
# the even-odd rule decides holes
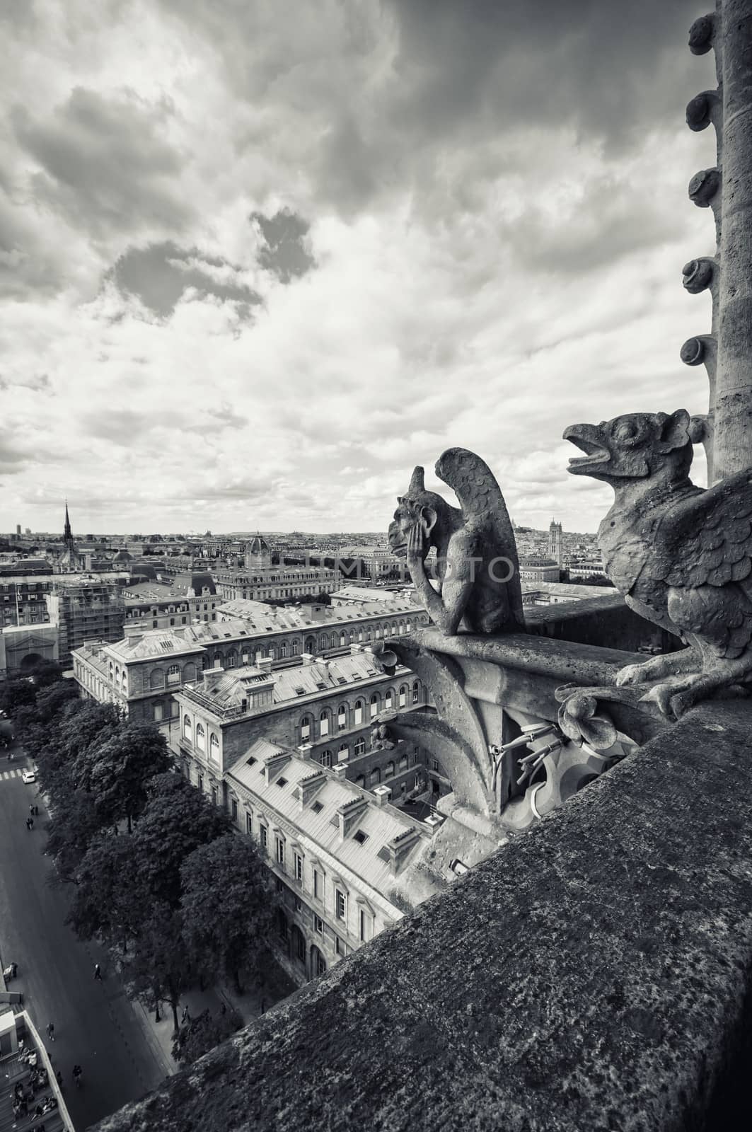
[[[371,749],[382,711],[428,709],[422,681],[399,667],[381,672],[368,650],[272,669],[270,659],[234,670],[208,669],[176,693],[170,746],[191,782],[216,798],[224,772],[257,739],[301,747],[322,766],[347,763],[347,777],[373,790],[387,784],[395,800],[426,784],[426,755],[411,744]]]

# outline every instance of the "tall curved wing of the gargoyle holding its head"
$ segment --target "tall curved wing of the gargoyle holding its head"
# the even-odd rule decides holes
[[[460,500],[465,522],[471,522],[473,525],[482,524],[488,531],[489,558],[509,559],[510,607],[520,625],[524,625],[514,530],[496,477],[485,460],[468,448],[447,448],[436,461],[435,471],[439,480],[448,484]]]

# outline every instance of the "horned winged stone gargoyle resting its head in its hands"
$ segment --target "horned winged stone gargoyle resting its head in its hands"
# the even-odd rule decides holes
[[[388,532],[428,616],[446,636],[460,626],[470,633],[524,629],[514,531],[494,474],[467,448],[448,448],[436,474],[454,490],[461,509],[427,491],[424,470],[416,468]],[[431,547],[438,592],[426,568]]]

